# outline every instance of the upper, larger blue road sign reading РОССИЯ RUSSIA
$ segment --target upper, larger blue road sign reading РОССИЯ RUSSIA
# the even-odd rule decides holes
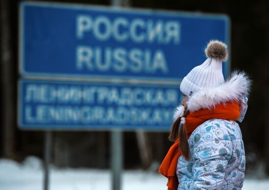
[[[203,48],[212,39],[229,43],[227,16],[20,4],[22,76],[180,82],[205,60]]]

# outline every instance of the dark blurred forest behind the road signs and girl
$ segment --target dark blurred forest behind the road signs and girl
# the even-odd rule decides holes
[[[43,0],[47,1],[47,0]],[[110,0],[53,0],[110,6]],[[262,165],[269,174],[269,3],[267,0],[124,0],[132,8],[221,13],[231,21],[231,70],[245,70],[253,80],[245,120],[247,172]],[[0,15],[0,157],[22,161],[43,158],[44,132],[17,126],[19,0],[1,0]],[[124,132],[124,168],[157,170],[172,142],[168,132]],[[141,154],[139,140],[147,155]],[[141,143],[141,142],[140,142]],[[58,167],[110,167],[109,131],[53,132],[53,164]]]

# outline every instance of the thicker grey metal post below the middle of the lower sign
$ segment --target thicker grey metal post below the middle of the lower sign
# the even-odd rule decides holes
[[[111,131],[111,168],[112,168],[112,190],[121,190],[122,171],[122,131],[115,129]]]

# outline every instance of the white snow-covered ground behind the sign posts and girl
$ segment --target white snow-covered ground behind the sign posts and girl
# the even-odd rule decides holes
[[[96,169],[52,169],[50,190],[110,190],[110,172]],[[0,190],[42,190],[40,160],[23,164],[0,159]],[[124,171],[122,190],[166,190],[166,178],[141,170]],[[243,190],[269,190],[269,179],[246,179]]]

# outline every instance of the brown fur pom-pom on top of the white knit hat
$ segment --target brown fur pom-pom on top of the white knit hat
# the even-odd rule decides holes
[[[204,51],[208,58],[226,61],[228,57],[227,45],[217,40],[210,41]]]

